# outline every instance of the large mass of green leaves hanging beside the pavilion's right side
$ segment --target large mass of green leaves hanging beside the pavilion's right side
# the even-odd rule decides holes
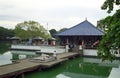
[[[120,50],[120,10],[109,18],[109,26],[98,47],[98,55],[105,59],[113,60]]]

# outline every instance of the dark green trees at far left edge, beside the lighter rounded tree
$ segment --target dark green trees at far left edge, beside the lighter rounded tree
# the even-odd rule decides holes
[[[4,40],[7,37],[12,37],[12,36],[14,36],[14,30],[0,27],[0,39]]]

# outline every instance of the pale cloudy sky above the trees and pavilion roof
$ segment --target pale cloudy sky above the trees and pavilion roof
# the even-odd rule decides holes
[[[33,20],[44,28],[70,28],[85,19],[93,25],[109,14],[101,10],[105,0],[0,0],[0,26],[14,29]]]

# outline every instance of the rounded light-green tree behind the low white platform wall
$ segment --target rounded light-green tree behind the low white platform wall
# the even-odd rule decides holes
[[[35,21],[24,21],[15,26],[16,36],[22,39],[28,39],[36,36],[49,38],[50,35],[42,25]]]

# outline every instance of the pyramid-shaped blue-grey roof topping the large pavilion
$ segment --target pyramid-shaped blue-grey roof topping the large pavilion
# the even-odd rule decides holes
[[[91,30],[94,30],[94,31],[89,30],[89,28],[91,28]],[[86,30],[87,30],[87,32],[86,32]],[[79,24],[76,24],[73,27],[71,27],[71,28],[69,28],[69,29],[67,29],[67,30],[65,30],[63,32],[57,33],[56,35],[60,35],[60,34],[65,34],[65,35],[68,35],[68,34],[73,35],[74,34],[74,35],[78,35],[78,33],[79,34],[80,33],[81,34],[85,34],[85,35],[87,35],[88,33],[91,34],[91,35],[93,35],[93,34],[95,34],[95,35],[97,35],[97,34],[98,35],[103,35],[104,34],[103,31],[101,31],[100,29],[98,29],[91,22],[89,22],[88,20],[84,20],[83,22],[81,22]]]

